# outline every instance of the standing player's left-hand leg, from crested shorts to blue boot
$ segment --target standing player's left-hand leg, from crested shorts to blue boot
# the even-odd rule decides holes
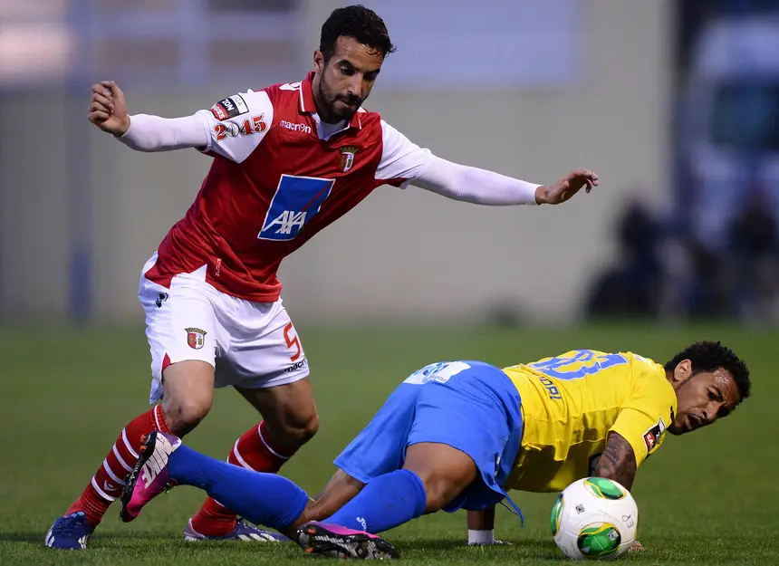
[[[146,273],[153,260],[144,267]],[[83,549],[108,507],[121,494],[124,478],[135,465],[142,436],[153,430],[179,436],[197,426],[211,407],[216,332],[214,313],[197,290],[197,277],[174,278],[170,288],[141,276],[139,298],[146,312],[151,350],[149,401],[162,405],[132,419],[117,437],[95,475],[66,513],[46,534],[54,548]],[[163,386],[164,383],[164,386]]]

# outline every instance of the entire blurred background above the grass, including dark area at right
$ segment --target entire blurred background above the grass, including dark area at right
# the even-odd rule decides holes
[[[91,127],[91,82],[188,115],[302,78],[342,4],[0,2],[2,320],[138,324],[140,267],[207,172]],[[398,45],[370,110],[441,157],[601,188],[533,209],[381,187],[284,264],[295,321],[779,321],[779,2],[366,4]]]

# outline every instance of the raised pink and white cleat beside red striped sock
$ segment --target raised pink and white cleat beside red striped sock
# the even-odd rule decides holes
[[[143,437],[140,456],[130,475],[120,499],[120,519],[130,523],[149,501],[175,485],[168,472],[168,459],[181,446],[178,436],[154,431]]]

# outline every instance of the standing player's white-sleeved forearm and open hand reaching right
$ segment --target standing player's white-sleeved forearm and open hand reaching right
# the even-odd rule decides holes
[[[589,169],[575,169],[553,185],[535,185],[431,155],[413,184],[444,197],[478,205],[559,205],[582,188],[589,193],[598,185],[598,176]]]

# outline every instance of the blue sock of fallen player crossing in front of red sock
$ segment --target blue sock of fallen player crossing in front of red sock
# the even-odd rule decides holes
[[[170,477],[206,490],[220,504],[255,524],[284,529],[309,502],[308,494],[281,475],[261,474],[204,456],[187,446],[170,455]]]

